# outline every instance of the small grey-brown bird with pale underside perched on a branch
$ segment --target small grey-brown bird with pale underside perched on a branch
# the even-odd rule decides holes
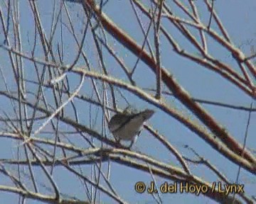
[[[129,145],[131,148],[142,131],[144,122],[149,120],[153,114],[154,111],[150,109],[140,113],[117,113],[110,120],[110,131],[118,142],[120,140],[131,141]]]

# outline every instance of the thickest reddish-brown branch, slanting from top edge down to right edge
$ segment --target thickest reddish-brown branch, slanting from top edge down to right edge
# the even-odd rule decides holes
[[[137,43],[132,40],[123,30],[121,30],[118,26],[116,26],[105,13],[100,11],[98,6],[95,6],[94,1],[92,0],[83,0],[83,6],[89,6],[100,19],[102,26],[109,32],[115,39],[117,39],[122,45],[127,47],[134,55],[140,55],[141,60],[147,64],[151,70],[156,74],[157,67],[154,59],[152,59],[148,53],[141,49]],[[250,163],[252,163],[256,171],[256,159],[253,155],[247,151],[247,149],[243,149],[242,145],[238,143],[232,135],[230,135],[225,128],[221,127],[218,122],[207,113],[198,103],[192,100],[191,96],[183,89],[178,82],[171,76],[171,74],[164,68],[161,68],[161,77],[164,81],[164,84],[172,91],[174,96],[183,103],[189,110],[197,115],[197,117],[204,123],[214,134],[218,137],[227,147],[229,147],[233,152],[238,154],[240,157],[244,157]]]

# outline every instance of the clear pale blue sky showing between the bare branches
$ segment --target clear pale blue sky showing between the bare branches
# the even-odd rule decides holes
[[[6,3],[6,1],[4,1]],[[148,2],[148,1],[142,1]],[[188,5],[187,1],[182,1],[184,4]],[[32,47],[33,47],[33,18],[31,13],[31,8],[28,6],[28,1],[21,0],[19,1],[19,9],[20,9],[20,27],[21,27],[21,38],[23,39],[23,52],[30,55]],[[41,13],[41,20],[43,24],[43,28],[46,34],[50,35],[50,25],[51,18],[53,13],[53,1],[37,1],[39,11]],[[59,9],[60,1],[56,1],[56,11]],[[179,16],[184,16],[184,13],[178,11],[177,7],[174,6],[172,1],[166,1],[166,4],[171,5],[172,10]],[[208,22],[209,13],[206,11],[206,6],[203,4],[203,0],[195,1],[195,4],[198,5],[198,13],[202,16],[203,22]],[[256,19],[256,1],[254,0],[246,0],[246,1],[238,1],[238,0],[216,0],[215,1],[215,11],[218,13],[219,18],[223,22],[226,30],[228,31],[231,40],[233,40],[234,45],[240,48],[242,52],[245,53],[245,56],[250,55],[251,46],[256,46],[256,23],[254,19]],[[70,16],[73,19],[73,23],[75,26],[75,33],[79,36],[81,40],[82,30],[85,28],[85,20],[83,19],[83,10],[80,4],[73,4],[67,2]],[[6,7],[4,3],[0,3],[1,9],[6,12]],[[174,7],[172,7],[174,6]],[[129,1],[108,1],[106,6],[103,8],[103,11],[116,23],[120,28],[125,30],[134,40],[136,40],[139,45],[142,45],[144,36],[139,28],[139,25],[134,16],[134,12],[132,11],[132,7],[129,4]],[[141,14],[142,16],[142,14]],[[149,26],[149,21],[147,18],[144,19],[144,28]],[[70,38],[70,33],[68,29],[65,27],[65,23],[67,23],[67,18],[63,15],[63,42],[64,42],[64,64],[71,64],[78,52],[78,47],[75,46],[75,41]],[[186,48],[189,52],[196,54],[196,50],[188,45],[188,41],[181,36],[180,33],[172,26],[166,19],[163,19],[163,23],[166,26],[167,30],[171,33],[171,35],[178,41],[179,45],[183,48]],[[211,28],[217,28],[213,23]],[[4,35],[0,28],[0,40],[1,43],[4,41]],[[11,29],[11,28],[10,28]],[[56,28],[56,33],[60,33],[60,23]],[[194,32],[196,33],[196,32]],[[53,50],[57,53],[57,45],[60,43],[59,34],[55,34],[55,38],[53,38]],[[198,36],[198,35],[197,35]],[[149,39],[153,42],[152,33],[149,34]],[[127,67],[132,69],[134,67],[135,62],[137,61],[137,57],[130,53],[125,47],[120,45],[116,40],[112,38],[109,34],[107,34],[107,40],[109,40],[110,45],[116,50],[117,54],[123,58]],[[163,67],[169,70],[171,74],[176,78],[179,84],[183,86],[186,91],[188,91],[191,96],[194,98],[200,98],[208,101],[218,101],[222,103],[228,103],[235,106],[246,106],[250,107],[250,103],[252,102],[252,98],[247,96],[245,93],[240,91],[236,86],[230,84],[229,81],[226,81],[218,74],[201,67],[198,64],[191,63],[189,60],[184,59],[183,57],[177,55],[174,50],[172,50],[171,46],[163,35],[160,36],[161,40],[161,63]],[[227,62],[233,65],[233,69],[238,70],[237,65],[235,64],[232,56],[220,45],[213,42],[212,39],[208,38],[208,50],[210,55],[213,55],[217,59],[221,59],[224,62]],[[38,40],[39,43],[39,40]],[[256,48],[255,48],[256,49]],[[97,60],[97,51],[95,50],[95,46],[92,42],[92,36],[88,34],[88,37],[85,40],[84,50],[86,52],[87,57],[90,59],[92,67],[94,67],[95,71],[100,70],[99,61]],[[39,59],[43,57],[42,48],[38,45],[36,49],[36,57]],[[8,81],[9,88],[16,90],[16,84],[14,84],[13,76],[9,75],[9,61],[6,59],[8,55],[6,55],[6,51],[0,49],[0,65],[1,69],[4,72],[4,76],[6,76],[6,81]],[[103,49],[103,56],[105,57],[105,66],[110,72],[110,75],[113,77],[118,77],[128,82],[127,78],[124,78],[124,73],[120,71],[120,67],[117,67],[117,63],[114,62],[112,57],[109,57],[107,52]],[[85,62],[80,58],[77,66],[85,66]],[[24,61],[24,69],[25,75],[27,79],[35,79],[35,70],[33,70],[33,64],[28,62],[28,60]],[[41,66],[39,66],[41,67]],[[70,79],[70,87],[71,90],[75,90],[75,88],[80,83],[80,77],[71,75],[68,76]],[[0,80],[1,81],[1,80]],[[143,62],[139,62],[137,65],[137,69],[134,73],[134,81],[137,82],[137,86],[140,88],[151,88],[154,89],[155,77],[153,72],[146,66]],[[254,81],[255,82],[255,81]],[[3,86],[3,82],[0,82],[1,90],[5,90]],[[26,84],[28,90],[35,90],[33,84]],[[90,90],[92,89],[92,85],[90,80],[85,79],[85,84],[82,86],[80,94],[85,94],[85,96],[90,96]],[[164,85],[163,85],[163,89]],[[46,88],[46,96],[48,98],[48,102],[52,102],[53,98],[50,96],[50,91]],[[230,162],[228,159],[218,154],[210,145],[204,142],[200,137],[195,135],[193,132],[188,130],[188,128],[184,127],[183,124],[179,123],[174,118],[171,118],[169,115],[159,110],[149,103],[142,101],[142,99],[130,94],[128,91],[122,91],[124,96],[126,96],[129,100],[130,105],[133,108],[137,108],[138,110],[142,110],[144,108],[151,108],[156,111],[154,116],[149,120],[149,125],[151,125],[155,130],[158,130],[161,135],[164,135],[171,145],[174,145],[178,149],[183,156],[189,157],[191,159],[196,159],[194,155],[188,149],[184,148],[184,145],[189,145],[189,147],[196,150],[198,154],[203,156],[205,159],[208,159],[213,165],[215,165],[219,171],[223,172],[225,176],[230,179],[231,182],[235,181],[236,176],[238,174],[238,166]],[[116,93],[118,93],[116,91]],[[29,95],[29,94],[28,94]],[[124,99],[117,94],[118,103],[117,106],[119,108],[126,108],[127,103],[125,103]],[[4,111],[13,115],[11,110],[11,104],[9,104],[9,100],[4,98],[4,96],[0,96],[0,107],[4,107]],[[32,96],[28,96],[33,98]],[[173,96],[164,96],[164,100],[169,106],[177,108],[178,110],[183,111],[185,115],[188,115],[193,120],[199,121],[193,113],[189,112],[181,103],[179,103]],[[95,96],[94,96],[95,98]],[[74,100],[75,105],[78,108],[78,115],[80,117],[80,123],[88,125],[89,121],[89,111],[90,104],[85,103],[84,101],[79,101],[77,99]],[[213,115],[213,118],[217,120],[220,124],[222,124],[231,135],[235,137],[235,140],[239,142],[243,142],[245,137],[245,128],[247,124],[248,113],[245,111],[233,110],[230,108],[223,108],[217,106],[211,106],[206,104],[201,104],[203,108],[206,108],[208,113]],[[71,112],[71,106],[68,105],[65,107],[65,114],[69,117],[74,118],[73,112]],[[255,106],[255,101],[253,101],[253,107]],[[1,108],[3,111],[3,108]],[[3,112],[2,112],[3,113]],[[101,119],[102,111],[97,108],[92,108],[92,113],[98,114],[96,118],[96,123],[93,126],[93,129],[97,132],[101,132]],[[198,122],[200,123],[200,122]],[[40,127],[42,122],[38,122],[36,124],[35,130],[37,127]],[[256,114],[255,112],[251,114],[250,127],[247,133],[247,148],[256,149]],[[44,131],[50,131],[50,125],[46,126]],[[65,124],[60,123],[60,130],[70,130]],[[110,132],[107,130],[108,136],[112,137]],[[53,140],[52,134],[46,134],[44,132],[42,135],[38,135],[38,137],[48,137]],[[69,136],[72,142],[78,147],[85,147],[85,142],[75,137],[75,135]],[[10,159],[16,158],[16,152],[18,145],[21,143],[11,141],[10,139],[4,139],[1,137],[0,148],[1,148],[1,158]],[[87,146],[86,146],[87,147]],[[162,162],[166,162],[168,164],[173,164],[176,166],[180,165],[176,161],[176,158],[171,155],[167,149],[164,149],[160,142],[158,142],[154,137],[152,137],[149,132],[144,130],[142,135],[140,135],[139,139],[132,147],[135,151],[143,152],[144,154],[149,154],[151,157],[157,158]],[[127,166],[122,166],[119,164],[115,164],[111,162],[111,179],[110,182],[116,189],[117,193],[121,195],[123,200],[126,200],[127,203],[155,203],[154,198],[147,193],[136,193],[134,191],[134,184],[137,181],[143,181],[144,183],[149,184],[152,181],[150,174],[145,174],[142,171],[137,171],[135,169],[129,168]],[[16,167],[9,166],[13,172],[16,172]],[[77,166],[77,168],[79,168]],[[202,179],[206,179],[208,182],[218,181],[216,176],[209,171],[204,166],[201,165],[193,165],[190,164],[191,171],[196,176],[200,176]],[[83,165],[80,166],[83,174],[90,176],[91,166]],[[107,170],[107,163],[102,164],[102,169]],[[105,171],[106,172],[106,171]],[[47,188],[44,188],[43,185],[48,185],[46,181],[46,177],[43,176],[40,168],[35,168],[36,178],[38,179],[38,183],[41,183],[40,192],[50,194]],[[28,171],[27,171],[28,174]],[[28,174],[29,175],[29,174]],[[28,176],[27,175],[27,176]],[[26,174],[23,175],[23,179],[26,180]],[[71,195],[80,199],[85,199],[85,189],[82,186],[80,180],[78,180],[74,175],[70,175],[70,172],[63,170],[63,167],[56,166],[53,173],[53,178],[58,183],[58,187],[62,193],[67,195]],[[164,183],[166,179],[161,179],[158,176],[155,177],[156,183],[158,186],[161,183]],[[169,183],[173,183],[173,181],[168,181]],[[10,181],[5,179],[4,176],[0,175],[0,185],[8,185]],[[43,184],[44,183],[44,184]],[[241,169],[240,171],[240,179],[238,183],[245,184],[245,192],[249,196],[256,196],[256,178],[252,174],[248,173]],[[31,183],[26,183],[28,186]],[[104,183],[105,185],[105,183]],[[32,187],[32,186],[30,186]],[[101,193],[101,198],[104,200],[103,203],[112,203],[112,199],[108,198]],[[193,196],[187,193],[177,193],[177,194],[161,194],[161,199],[163,203],[215,203],[213,200],[209,200],[204,196]],[[14,193],[0,193],[0,200],[2,203],[16,203],[18,200],[18,196]],[[38,203],[38,201],[28,200],[28,203]]]

